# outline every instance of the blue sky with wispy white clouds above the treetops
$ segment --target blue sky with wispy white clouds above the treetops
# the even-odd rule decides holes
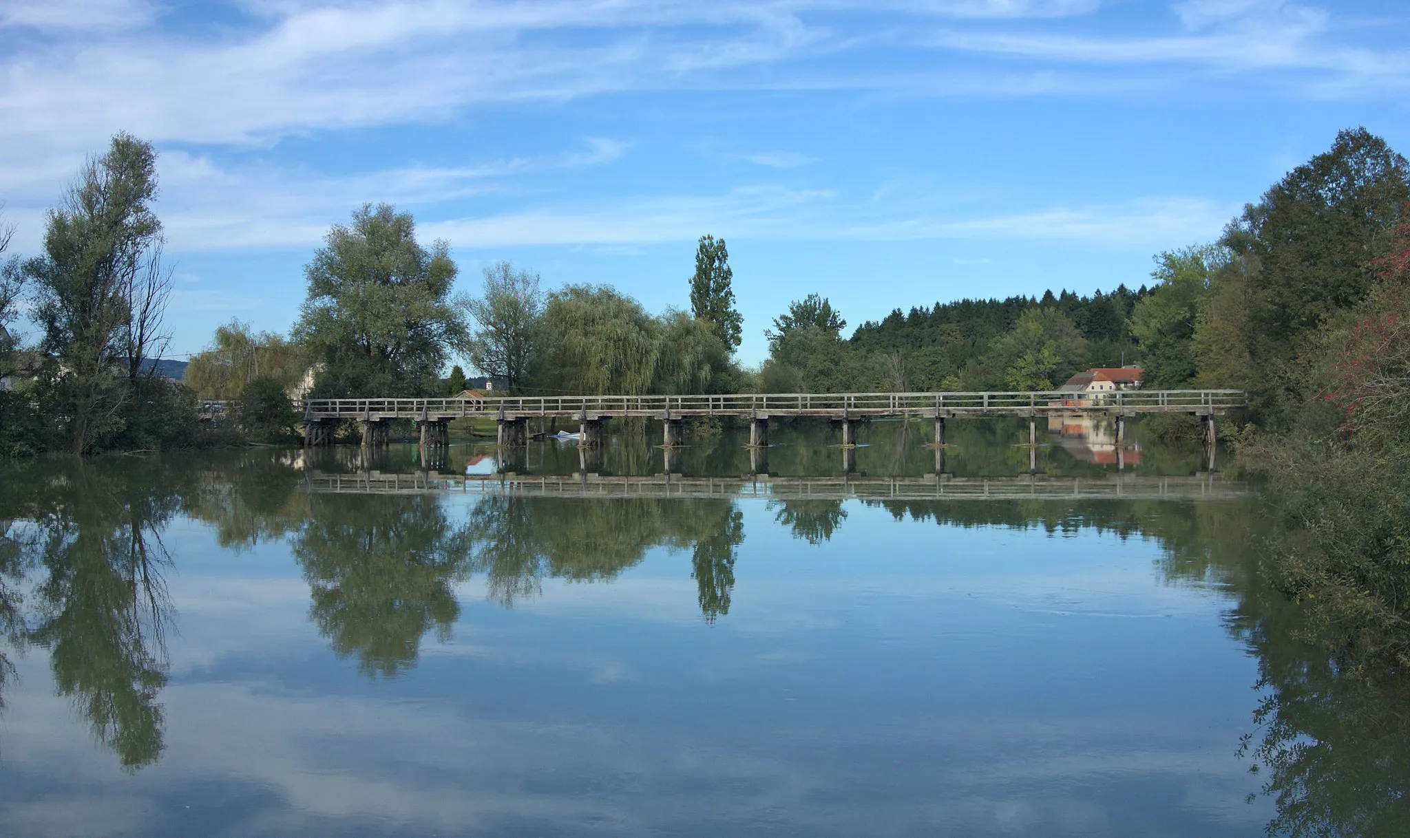
[[[173,354],[286,330],[362,201],[462,290],[512,259],[654,311],[711,232],[753,363],[809,292],[856,325],[1141,284],[1340,128],[1410,151],[1407,34],[1390,0],[4,0],[0,200],[34,252],[85,154],[155,142]]]

